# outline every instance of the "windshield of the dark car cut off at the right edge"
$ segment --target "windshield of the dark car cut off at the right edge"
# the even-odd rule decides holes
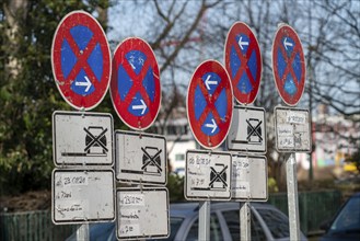
[[[360,196],[352,197],[344,206],[330,227],[332,232],[360,232]]]

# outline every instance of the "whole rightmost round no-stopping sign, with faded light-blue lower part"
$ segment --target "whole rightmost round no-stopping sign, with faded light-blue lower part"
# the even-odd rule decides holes
[[[275,34],[272,73],[283,102],[297,105],[305,87],[305,58],[297,32],[287,24],[282,24]]]

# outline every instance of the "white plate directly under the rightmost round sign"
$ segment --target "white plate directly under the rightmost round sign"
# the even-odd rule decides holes
[[[275,136],[279,152],[310,152],[309,110],[275,107]]]

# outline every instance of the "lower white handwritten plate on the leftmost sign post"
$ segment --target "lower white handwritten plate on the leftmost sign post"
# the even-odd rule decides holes
[[[55,169],[51,216],[56,225],[115,220],[113,170]]]

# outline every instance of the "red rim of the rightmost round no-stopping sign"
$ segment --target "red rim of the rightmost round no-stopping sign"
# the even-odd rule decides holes
[[[281,38],[284,37],[284,36],[291,37],[295,43],[292,57],[290,57],[290,58],[293,59],[294,53],[299,53],[300,54],[300,62],[302,64],[301,65],[302,78],[301,78],[300,83],[299,83],[299,88],[301,89],[301,91],[298,91],[293,96],[289,95],[284,91],[284,89],[281,87],[281,82],[284,81],[284,78],[287,77],[287,74],[283,74],[282,79],[278,78],[279,77],[279,70],[275,65],[275,62],[277,61],[277,56],[278,56],[276,49],[277,49],[277,47],[282,46]],[[295,49],[298,49],[299,51],[297,51]],[[304,93],[304,90],[305,90],[306,65],[305,65],[305,57],[304,57],[302,43],[301,43],[301,39],[300,39],[299,35],[294,31],[294,28],[292,28],[288,24],[281,24],[278,27],[277,32],[275,33],[271,54],[272,54],[272,56],[271,56],[272,74],[274,74],[275,84],[276,84],[276,88],[277,88],[277,90],[280,94],[280,97],[282,99],[282,101],[286,104],[288,104],[290,106],[295,106],[299,103],[299,101],[300,101],[300,99],[301,99],[301,96],[302,96],[302,94]]]

